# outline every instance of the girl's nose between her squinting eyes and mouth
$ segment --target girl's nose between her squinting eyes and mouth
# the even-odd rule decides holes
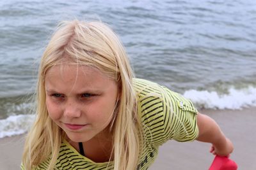
[[[76,101],[67,101],[64,106],[64,117],[68,118],[77,118],[81,117],[81,109],[79,108],[79,104]]]

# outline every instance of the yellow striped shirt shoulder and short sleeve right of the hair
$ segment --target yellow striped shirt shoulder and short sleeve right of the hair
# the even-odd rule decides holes
[[[198,136],[197,110],[180,94],[140,80],[136,83],[138,113],[148,143],[162,145],[169,139],[193,141]]]

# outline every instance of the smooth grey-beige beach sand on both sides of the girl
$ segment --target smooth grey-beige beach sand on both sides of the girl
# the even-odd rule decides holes
[[[214,118],[235,150],[231,159],[238,164],[238,169],[256,169],[255,127],[256,108],[243,110],[200,110]],[[24,145],[24,135],[0,139],[0,169],[19,169]],[[211,165],[214,156],[209,153],[210,144],[195,142],[178,143],[169,141],[159,148],[159,155],[149,168],[174,170],[205,170]]]

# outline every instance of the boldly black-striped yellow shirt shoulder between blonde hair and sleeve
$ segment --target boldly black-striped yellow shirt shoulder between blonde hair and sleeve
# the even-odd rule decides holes
[[[147,143],[162,143],[165,125],[165,113],[162,87],[152,81],[133,80],[137,96],[137,112],[143,127]]]

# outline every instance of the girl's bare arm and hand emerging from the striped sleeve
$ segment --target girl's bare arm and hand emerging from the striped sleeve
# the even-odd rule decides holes
[[[210,152],[214,155],[227,156],[234,150],[230,139],[226,138],[218,124],[207,115],[198,113],[196,116],[199,135],[196,140],[212,143]]]

